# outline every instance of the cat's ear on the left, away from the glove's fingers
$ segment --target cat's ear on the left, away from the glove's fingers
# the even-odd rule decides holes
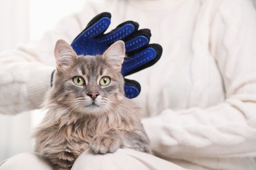
[[[56,42],[54,56],[58,70],[72,65],[75,59],[77,59],[77,55],[75,54],[72,46],[62,39]]]

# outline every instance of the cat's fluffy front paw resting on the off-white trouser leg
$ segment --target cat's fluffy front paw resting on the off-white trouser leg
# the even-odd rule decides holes
[[[120,146],[120,138],[110,135],[96,135],[90,143],[90,148],[95,154],[113,153],[120,148]]]

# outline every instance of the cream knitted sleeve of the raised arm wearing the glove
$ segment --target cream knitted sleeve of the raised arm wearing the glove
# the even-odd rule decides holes
[[[0,54],[0,114],[40,107],[51,87],[56,41],[71,43],[95,14],[93,7],[85,4],[85,10],[63,18],[39,41]]]

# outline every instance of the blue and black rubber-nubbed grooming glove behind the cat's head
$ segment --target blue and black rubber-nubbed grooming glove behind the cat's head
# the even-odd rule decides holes
[[[161,46],[159,44],[148,44],[151,37],[150,29],[138,30],[139,24],[137,22],[127,21],[104,34],[110,25],[110,19],[111,14],[109,12],[102,12],[89,22],[71,44],[77,55],[94,56],[103,54],[111,44],[122,40],[125,42],[125,52],[127,54],[121,70],[123,76],[150,67],[160,59]],[[139,93],[139,82],[125,78],[126,97],[134,98]]]

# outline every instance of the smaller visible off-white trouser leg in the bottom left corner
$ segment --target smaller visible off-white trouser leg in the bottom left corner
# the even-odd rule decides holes
[[[0,164],[0,170],[53,170],[49,163],[33,153],[12,156]]]

